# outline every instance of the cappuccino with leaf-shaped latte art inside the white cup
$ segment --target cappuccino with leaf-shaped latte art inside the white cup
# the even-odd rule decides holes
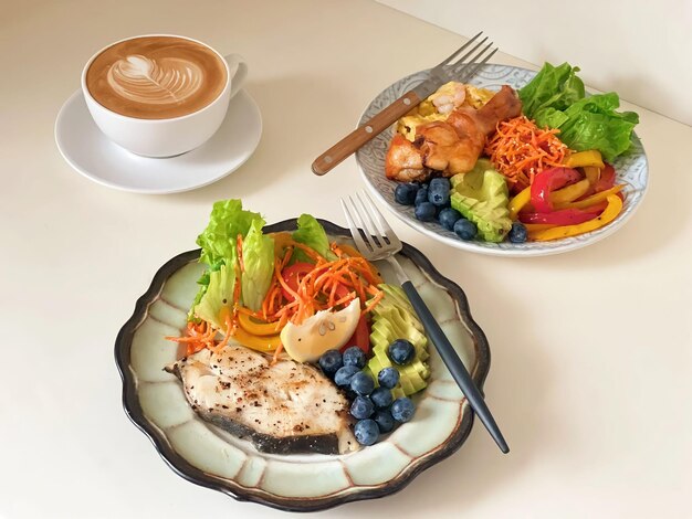
[[[86,88],[105,108],[138,119],[170,119],[200,110],[223,92],[223,60],[201,43],[140,36],[101,52],[86,71]]]

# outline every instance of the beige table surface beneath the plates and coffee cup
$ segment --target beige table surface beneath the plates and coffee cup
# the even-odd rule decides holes
[[[250,63],[262,141],[197,191],[113,191],[73,171],[54,144],[87,57],[150,32]],[[366,0],[2,1],[0,517],[281,516],[167,467],[122,410],[115,336],[156,269],[193,247],[214,200],[240,197],[270,222],[302,211],[343,222],[336,197],[363,186],[355,160],[317,178],[313,158],[381,88],[461,41]],[[638,112],[650,190],[604,242],[497,258],[391,219],[466,292],[490,339],[485,391],[512,453],[476,424],[459,453],[398,495],[318,516],[692,516],[692,128]]]

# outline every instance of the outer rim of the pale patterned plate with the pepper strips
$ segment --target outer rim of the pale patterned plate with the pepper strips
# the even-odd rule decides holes
[[[526,67],[523,67],[523,66],[507,65],[507,64],[504,64],[504,63],[487,63],[487,64],[483,65],[483,70],[490,68],[490,67],[506,67],[506,68],[510,68],[512,71],[527,72],[527,73],[532,73],[532,74],[537,74],[538,73],[538,70],[526,68]],[[395,81],[394,83],[390,83],[385,88],[382,88],[375,97],[373,97],[367,103],[367,105],[365,106],[365,108],[360,113],[360,116],[358,118],[358,123],[357,123],[356,127],[358,128],[358,127],[363,126],[366,123],[365,114],[368,112],[370,105],[373,105],[373,103],[375,103],[380,96],[382,96],[382,94],[385,94],[385,92],[387,92],[389,88],[391,88],[394,85],[396,85],[399,82],[409,81],[409,80],[411,80],[412,77],[415,77],[417,75],[430,72],[430,70],[431,68],[423,68],[423,70],[420,70],[418,72],[413,72],[411,74],[408,74],[406,76],[399,77],[397,81]],[[646,153],[646,150],[643,148],[643,144],[641,142],[641,139],[639,138],[637,133],[632,130],[632,135],[633,135],[635,139],[637,139],[639,141],[639,144],[641,145],[641,150],[642,150],[641,158],[643,160],[643,165],[644,165],[644,168],[646,168],[644,186],[639,191],[640,197],[639,197],[639,200],[637,201],[637,203],[631,205],[631,209],[627,213],[618,215],[614,222],[610,222],[605,227],[601,227],[601,232],[600,233],[597,233],[597,234],[594,234],[593,232],[584,233],[581,235],[586,236],[585,240],[579,240],[577,242],[565,243],[563,245],[559,245],[559,241],[553,241],[552,243],[556,243],[557,245],[556,246],[546,247],[546,248],[539,248],[539,247],[535,247],[535,248],[492,248],[492,247],[483,247],[483,246],[480,246],[480,245],[475,244],[475,242],[464,242],[463,240],[455,240],[455,239],[452,239],[452,237],[439,234],[437,232],[433,232],[433,231],[427,229],[424,225],[419,224],[418,222],[413,221],[413,219],[410,219],[410,218],[399,213],[399,211],[397,211],[395,209],[395,206],[392,206],[392,204],[389,203],[389,201],[387,199],[385,199],[382,193],[379,192],[377,187],[370,181],[369,177],[366,173],[365,167],[364,167],[363,161],[360,159],[360,155],[363,153],[363,148],[358,149],[356,151],[355,156],[356,156],[356,165],[358,166],[358,171],[360,172],[360,178],[363,179],[364,183],[366,184],[368,191],[370,193],[373,193],[373,195],[375,198],[377,198],[377,200],[380,203],[382,203],[392,215],[395,215],[401,222],[406,223],[409,227],[420,232],[424,236],[428,236],[428,237],[430,237],[432,240],[439,241],[439,242],[441,242],[441,243],[443,243],[445,245],[449,245],[449,246],[454,247],[454,248],[460,250],[460,251],[472,252],[472,253],[482,254],[482,255],[486,255],[486,256],[497,256],[497,257],[552,256],[552,255],[556,255],[556,254],[564,254],[564,253],[567,253],[567,252],[576,251],[578,248],[583,248],[583,247],[586,247],[588,245],[593,245],[594,243],[600,242],[601,240],[610,236],[616,231],[618,231],[622,226],[625,226],[625,224],[630,221],[632,215],[641,206],[641,204],[642,204],[642,202],[643,202],[643,200],[644,200],[644,198],[647,195],[647,192],[649,191],[649,183],[650,183],[649,182],[649,158],[648,158],[648,156]],[[384,174],[384,172],[382,172],[382,174]],[[549,242],[546,242],[546,243],[549,243]]]

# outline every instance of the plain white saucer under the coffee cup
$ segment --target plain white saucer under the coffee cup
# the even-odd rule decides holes
[[[92,119],[82,91],[65,102],[55,120],[55,142],[70,166],[94,182],[136,193],[178,193],[216,182],[252,156],[261,136],[262,115],[245,91],[231,99],[211,139],[166,159],[139,157],[108,140]]]

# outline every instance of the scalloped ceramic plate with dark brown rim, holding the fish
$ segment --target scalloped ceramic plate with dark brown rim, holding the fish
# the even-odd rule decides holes
[[[346,229],[321,222],[334,239],[349,240]],[[265,231],[293,229],[295,220],[289,220]],[[239,500],[284,510],[319,510],[398,491],[464,443],[472,411],[432,347],[429,385],[416,398],[413,420],[356,453],[270,455],[199,419],[179,381],[164,371],[177,353],[164,336],[178,335],[186,325],[203,268],[198,257],[199,250],[189,251],[158,271],[115,343],[125,411],[180,476]],[[403,245],[399,260],[482,389],[490,348],[463,290],[410,245]],[[377,266],[386,280],[395,279],[386,262]]]

